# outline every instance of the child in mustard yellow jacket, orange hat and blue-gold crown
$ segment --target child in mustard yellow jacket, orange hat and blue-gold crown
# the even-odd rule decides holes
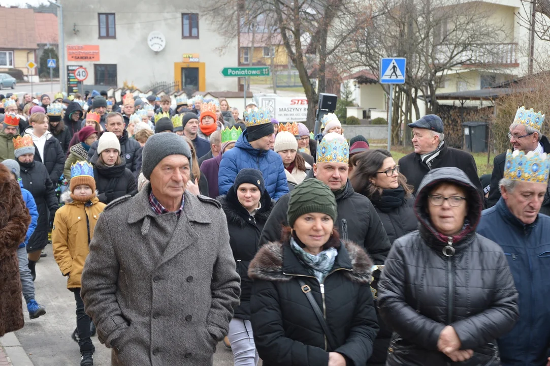
[[[95,348],[90,338],[91,319],[84,312],[80,297],[80,276],[97,220],[106,205],[97,198],[94,167],[88,162],[79,161],[71,166],[69,188],[62,195],[65,205],[57,210],[53,221],[53,255],[63,276],[68,276],[67,288],[76,301],[80,366],[92,366]],[[76,340],[75,334],[73,339]]]

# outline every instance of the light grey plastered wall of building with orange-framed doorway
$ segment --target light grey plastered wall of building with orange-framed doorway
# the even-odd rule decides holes
[[[60,0],[60,3],[65,47],[100,46],[99,62],[67,62],[67,65],[83,65],[88,70],[84,86],[94,84],[94,64],[116,64],[119,87],[125,81],[137,88],[161,81],[171,83],[180,78],[180,69],[174,70],[174,63],[183,62],[185,53],[198,53],[199,62],[205,63],[205,91],[238,90],[237,78],[224,78],[220,74],[224,67],[238,66],[237,40],[227,42],[216,32],[216,24],[200,14],[204,2]],[[116,39],[99,38],[98,13],[116,14]],[[182,13],[199,13],[199,39],[182,39]],[[223,21],[223,17],[218,20]],[[151,31],[163,33],[166,38],[164,50],[154,52],[149,48],[147,36]],[[222,51],[217,50],[220,47]]]

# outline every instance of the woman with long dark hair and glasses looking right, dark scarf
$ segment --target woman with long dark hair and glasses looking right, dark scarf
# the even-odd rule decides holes
[[[354,159],[350,182],[355,192],[375,206],[389,242],[416,230],[418,221],[412,209],[414,196],[407,179],[388,150],[361,152]]]

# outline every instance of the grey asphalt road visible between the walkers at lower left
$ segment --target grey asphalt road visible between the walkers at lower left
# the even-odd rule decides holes
[[[35,366],[78,365],[80,353],[78,344],[70,335],[76,327],[75,301],[67,289],[67,278],[59,272],[53,259],[52,246],[46,247],[46,258],[36,264],[36,301],[46,307],[46,315],[29,320],[29,312],[22,301],[25,326],[15,332],[21,346],[29,354]],[[111,350],[92,337],[96,347],[95,366],[111,364]],[[233,354],[220,342],[215,356],[215,366],[232,366]]]

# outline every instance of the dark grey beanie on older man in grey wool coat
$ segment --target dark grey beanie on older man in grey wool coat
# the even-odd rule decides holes
[[[141,172],[145,178],[150,180],[153,169],[168,155],[186,156],[191,168],[191,150],[187,141],[175,133],[157,133],[147,139],[141,152]]]

